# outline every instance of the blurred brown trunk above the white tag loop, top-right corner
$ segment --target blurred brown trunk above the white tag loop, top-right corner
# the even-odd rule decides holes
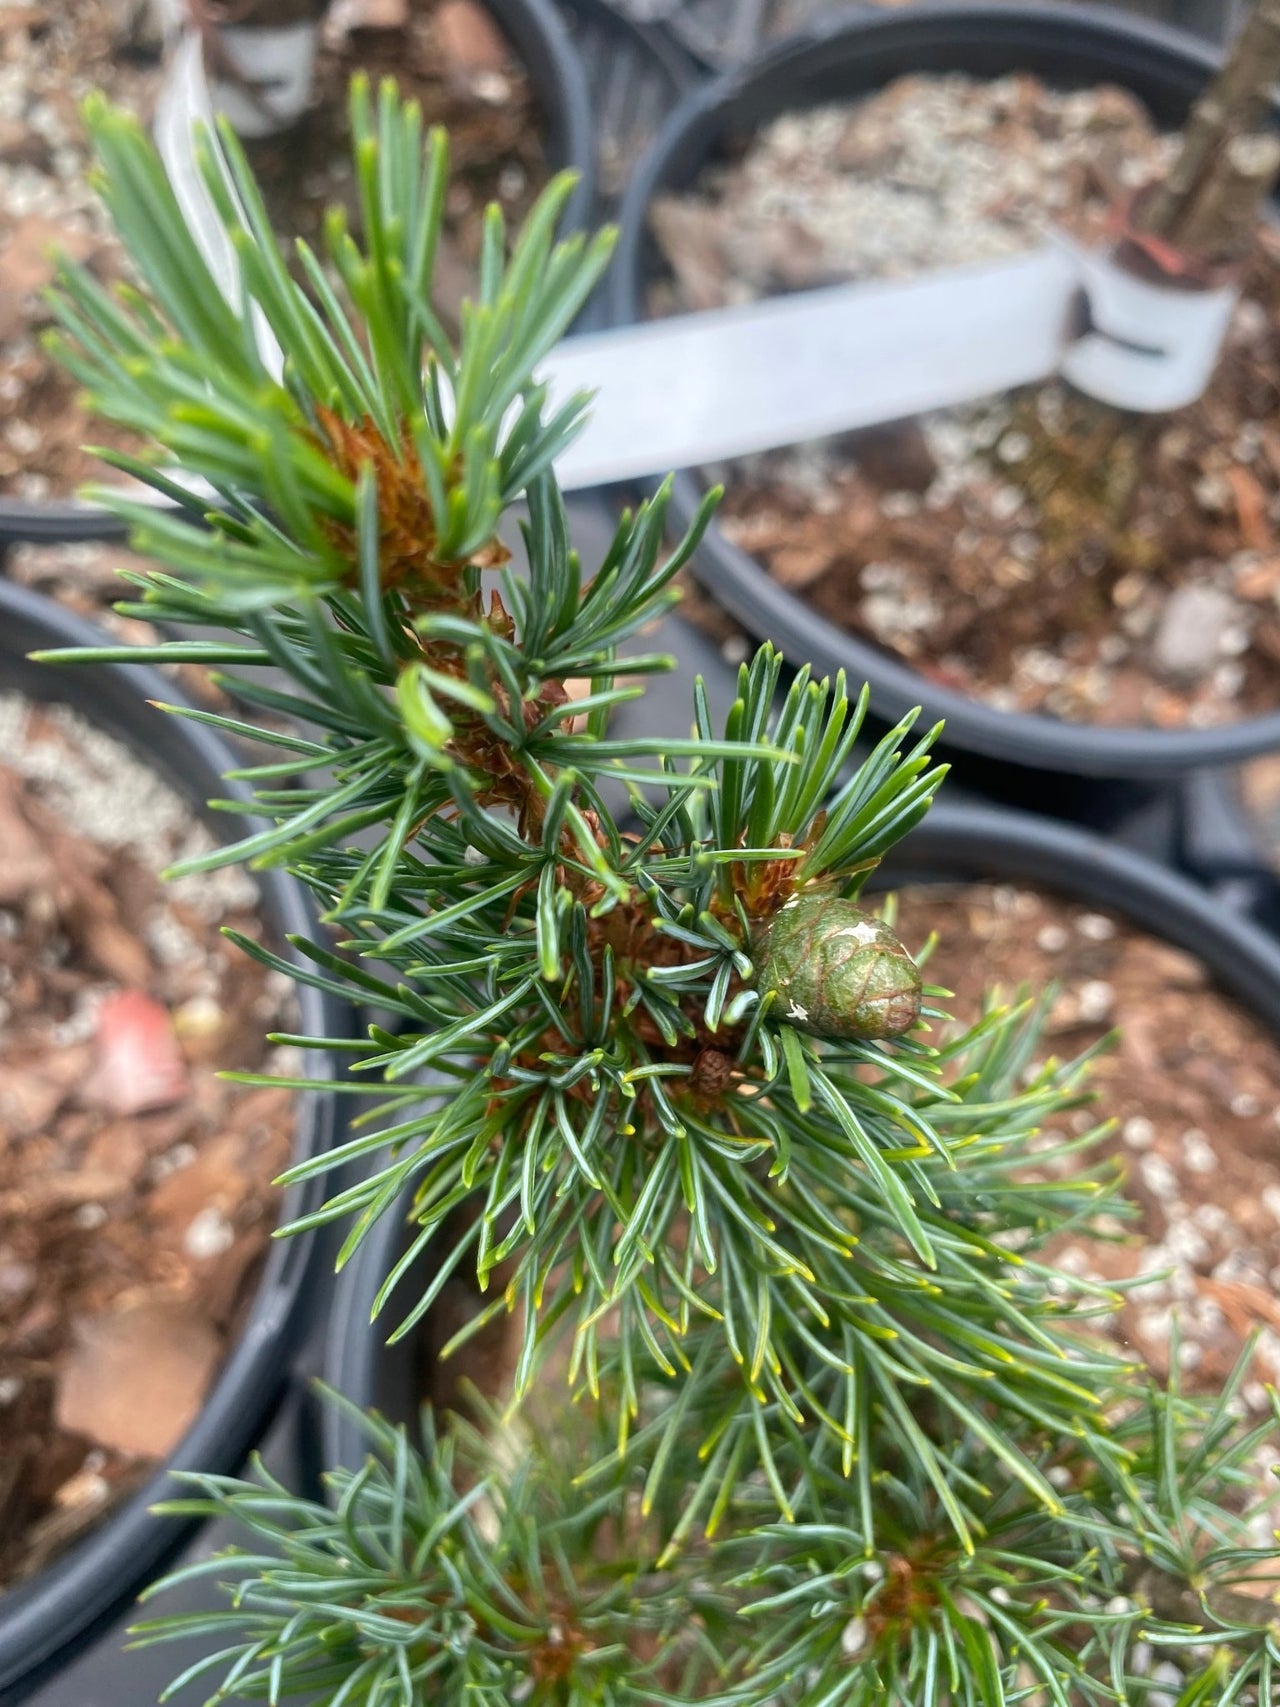
[[[1256,0],[1222,70],[1200,96],[1164,183],[1137,222],[1212,261],[1248,254],[1258,210],[1280,169],[1266,119],[1280,79],[1280,0]]]

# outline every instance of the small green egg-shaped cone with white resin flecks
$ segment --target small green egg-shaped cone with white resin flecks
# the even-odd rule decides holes
[[[771,1012],[816,1038],[898,1038],[920,1017],[920,971],[884,920],[838,896],[794,896],[754,939]]]

